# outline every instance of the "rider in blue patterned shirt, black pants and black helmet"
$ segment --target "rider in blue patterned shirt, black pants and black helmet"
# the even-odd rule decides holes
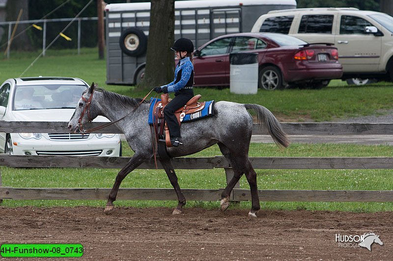
[[[180,140],[180,126],[174,112],[194,96],[194,44],[190,39],[180,38],[170,49],[175,51],[176,58],[179,60],[175,69],[174,80],[167,85],[155,87],[154,91],[158,94],[161,92],[164,94],[175,93],[175,97],[164,108],[164,117],[168,124],[170,142],[172,146],[177,147],[183,143]]]

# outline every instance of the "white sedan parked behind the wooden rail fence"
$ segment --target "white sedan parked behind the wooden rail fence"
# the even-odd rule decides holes
[[[8,79],[0,87],[0,120],[68,122],[86,88],[87,83],[79,78]],[[98,117],[94,121],[108,119]],[[119,134],[0,132],[0,153],[121,156],[121,142]]]

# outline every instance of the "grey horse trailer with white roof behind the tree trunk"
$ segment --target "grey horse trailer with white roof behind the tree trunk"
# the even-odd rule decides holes
[[[296,8],[296,0],[175,1],[175,39],[199,47],[228,33],[250,32],[271,10]],[[146,61],[150,2],[108,4],[106,10],[107,84],[140,82]]]

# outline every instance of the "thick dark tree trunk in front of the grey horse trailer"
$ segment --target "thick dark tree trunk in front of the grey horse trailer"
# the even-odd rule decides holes
[[[173,79],[174,0],[151,0],[146,67],[139,88],[151,89]]]

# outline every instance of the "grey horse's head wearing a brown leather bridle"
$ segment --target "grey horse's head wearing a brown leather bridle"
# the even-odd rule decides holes
[[[98,108],[93,105],[95,100],[93,96],[94,90],[95,86],[93,82],[90,88],[84,91],[82,97],[79,99],[75,112],[68,122],[68,129],[70,129],[70,132],[76,133],[80,130],[84,133],[83,125],[98,116]]]

